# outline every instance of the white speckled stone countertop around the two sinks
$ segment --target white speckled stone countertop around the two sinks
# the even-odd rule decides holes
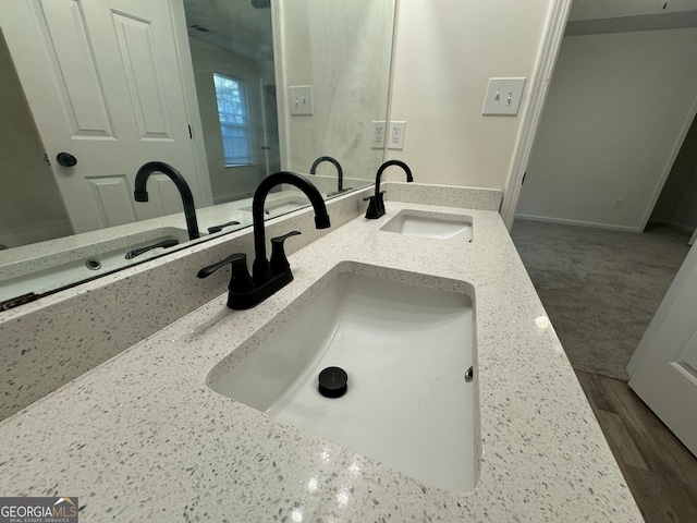
[[[499,215],[387,207],[292,255],[295,281],[256,308],[229,311],[221,294],[2,422],[0,494],[78,496],[85,521],[643,521]],[[472,216],[474,241],[378,230],[403,208]],[[431,488],[206,386],[346,260],[474,287],[473,491]]]

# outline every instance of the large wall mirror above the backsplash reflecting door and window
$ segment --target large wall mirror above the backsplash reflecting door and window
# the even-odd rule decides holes
[[[2,2],[0,309],[249,226],[252,195],[272,172],[306,174],[327,197],[372,183],[394,9]],[[136,202],[150,161],[176,172],[142,172],[148,197]],[[294,191],[269,195],[267,216],[305,206]]]

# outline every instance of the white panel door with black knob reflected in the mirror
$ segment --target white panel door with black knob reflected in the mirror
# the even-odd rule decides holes
[[[193,73],[181,65],[174,1],[0,2],[0,27],[75,232],[181,211],[173,186],[156,190],[164,177],[149,180],[149,203],[134,202],[135,173],[151,160],[184,175],[197,207],[210,205],[191,137],[183,74]],[[63,151],[77,163],[59,165]]]

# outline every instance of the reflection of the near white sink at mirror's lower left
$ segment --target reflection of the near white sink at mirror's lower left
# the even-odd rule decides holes
[[[188,242],[188,233],[184,229],[160,228],[3,267],[0,272],[0,302],[29,292],[40,294],[49,290],[61,289],[144,262],[167,250],[152,248],[131,259],[126,259],[126,254],[166,241],[185,243]]]

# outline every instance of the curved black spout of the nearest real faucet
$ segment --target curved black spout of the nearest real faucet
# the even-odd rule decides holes
[[[317,229],[327,229],[331,227],[329,215],[327,214],[327,206],[325,205],[322,195],[319,193],[317,187],[313,185],[313,183],[305,177],[290,171],[280,171],[265,178],[254,193],[254,199],[252,200],[252,219],[254,223],[255,250],[252,275],[254,283],[256,285],[261,285],[271,278],[271,267],[269,260],[266,258],[264,203],[269,192],[273,187],[282,183],[288,183],[289,185],[293,185],[299,188],[309,198],[309,202],[315,209],[315,227]]]

